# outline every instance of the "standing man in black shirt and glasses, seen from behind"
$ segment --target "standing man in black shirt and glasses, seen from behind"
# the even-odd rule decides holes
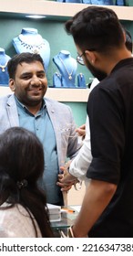
[[[91,179],[74,237],[133,237],[133,59],[109,8],[88,6],[66,23],[77,62],[107,76],[89,95]]]

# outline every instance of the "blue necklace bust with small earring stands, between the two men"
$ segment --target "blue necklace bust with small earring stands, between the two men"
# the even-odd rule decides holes
[[[86,82],[83,74],[82,77],[80,74],[77,75],[78,79],[76,86],[77,60],[71,57],[69,51],[61,50],[53,58],[53,62],[59,70],[59,73],[56,72],[53,75],[53,87],[77,88],[78,86],[86,88]]]

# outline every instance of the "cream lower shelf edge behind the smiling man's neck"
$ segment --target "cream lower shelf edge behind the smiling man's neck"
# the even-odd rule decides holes
[[[13,93],[9,87],[0,87],[0,96]],[[47,88],[46,97],[55,101],[87,102],[89,89]]]

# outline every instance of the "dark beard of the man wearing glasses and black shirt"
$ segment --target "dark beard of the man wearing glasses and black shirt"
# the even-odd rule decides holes
[[[90,62],[86,59],[87,69],[92,73],[92,75],[97,78],[97,80],[101,81],[107,77],[107,74],[104,71],[94,68]]]

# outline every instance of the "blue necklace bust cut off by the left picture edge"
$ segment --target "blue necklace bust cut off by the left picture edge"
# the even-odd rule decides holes
[[[5,54],[5,49],[0,48],[0,85],[8,86],[9,75],[7,72],[7,63],[11,59],[8,55]]]

